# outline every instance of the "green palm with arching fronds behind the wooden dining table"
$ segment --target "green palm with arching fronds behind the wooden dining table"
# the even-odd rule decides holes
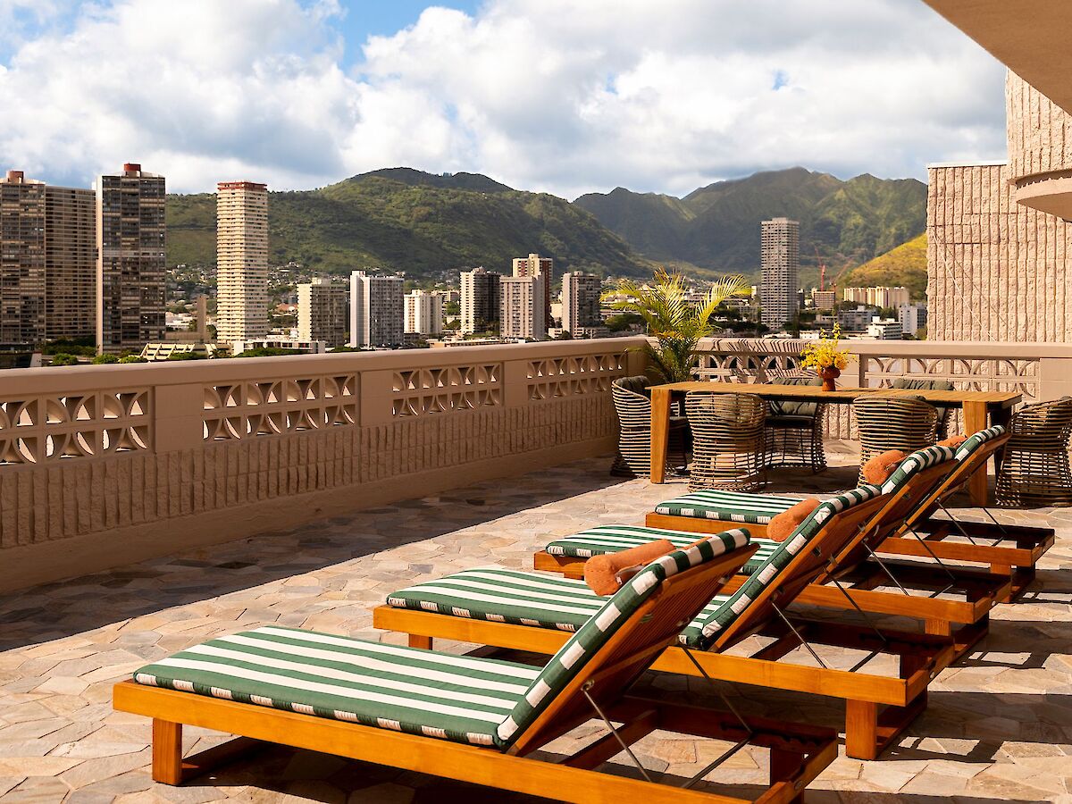
[[[612,310],[643,318],[647,334],[655,339],[645,346],[650,372],[662,382],[682,383],[693,378],[697,346],[700,339],[714,331],[711,319],[718,306],[748,288],[740,273],[721,277],[712,283],[701,302],[694,303],[686,298],[684,274],[659,267],[653,284],[623,279],[605,291],[602,299]]]

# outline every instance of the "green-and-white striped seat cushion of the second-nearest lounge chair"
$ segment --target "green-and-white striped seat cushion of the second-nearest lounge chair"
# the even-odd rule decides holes
[[[717,596],[697,614],[682,632],[681,641],[698,644],[705,619],[727,598]],[[576,631],[605,602],[607,598],[593,592],[584,581],[553,572],[503,567],[465,569],[407,586],[387,598],[388,606],[399,609],[563,631]]]

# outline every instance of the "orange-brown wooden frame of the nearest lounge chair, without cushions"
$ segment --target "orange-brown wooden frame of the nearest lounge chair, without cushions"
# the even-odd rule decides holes
[[[257,741],[333,754],[404,770],[487,785],[579,804],[622,801],[786,804],[803,801],[803,790],[837,756],[829,729],[739,718],[710,709],[668,705],[625,695],[686,622],[718,592],[724,578],[750,554],[732,551],[662,581],[661,587],[622,624],[548,708],[506,751],[378,729],[283,710],[238,703],[125,681],[114,687],[117,710],[152,718],[152,777],[178,785],[249,750]],[[552,740],[601,718],[609,733],[560,761],[533,758]],[[622,724],[614,727],[613,723]],[[196,757],[182,758],[182,726],[241,735]],[[656,729],[701,738],[750,743],[771,749],[771,785],[753,799],[669,787],[593,769]],[[639,766],[639,764],[638,764]],[[704,769],[704,771],[709,771]],[[640,768],[645,778],[647,773]],[[701,772],[702,773],[702,772]]]

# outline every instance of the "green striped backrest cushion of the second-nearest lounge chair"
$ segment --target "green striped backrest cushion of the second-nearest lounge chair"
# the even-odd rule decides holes
[[[873,500],[880,491],[876,486],[861,486],[847,491],[823,503],[812,511],[810,516],[798,525],[790,536],[768,556],[763,565],[753,572],[741,587],[734,592],[718,609],[712,612],[701,629],[700,647],[706,649],[729,625],[745,611],[751,601],[771,584],[778,583],[781,571],[789,565],[793,556],[812,541],[822,531],[823,524],[835,513],[848,510],[860,503]]]

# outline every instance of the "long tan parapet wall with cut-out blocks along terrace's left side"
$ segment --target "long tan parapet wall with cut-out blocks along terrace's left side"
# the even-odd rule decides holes
[[[0,373],[0,590],[613,449],[643,340]]]

